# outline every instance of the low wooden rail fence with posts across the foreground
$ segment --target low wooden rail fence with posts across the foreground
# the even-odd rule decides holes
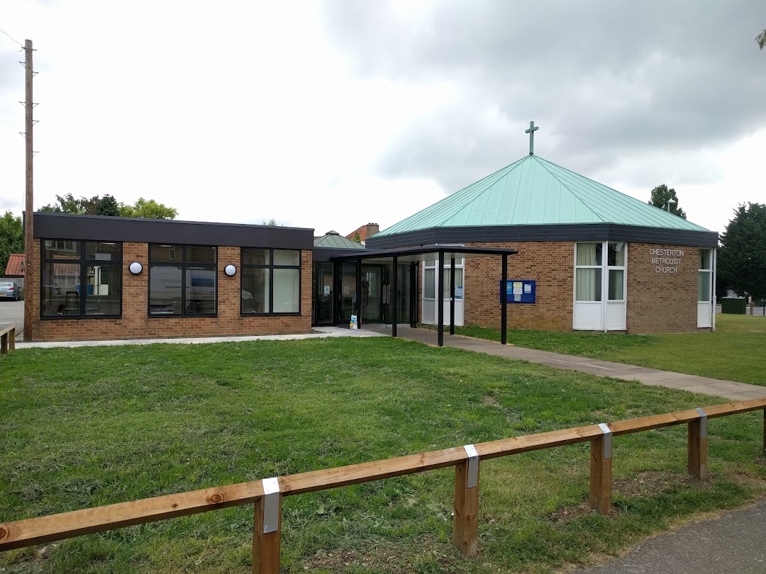
[[[766,398],[753,399],[0,523],[0,551],[219,508],[254,504],[253,572],[277,574],[280,568],[282,497],[454,466],[453,540],[465,556],[476,556],[479,461],[591,442],[590,504],[601,514],[608,514],[611,508],[614,436],[686,424],[689,426],[689,475],[705,478],[707,420],[758,409],[764,411],[763,446],[766,451]]]

